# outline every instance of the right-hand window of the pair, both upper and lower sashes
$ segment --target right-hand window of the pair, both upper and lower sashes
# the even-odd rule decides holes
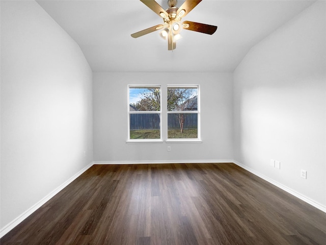
[[[199,140],[199,86],[168,86],[169,140]]]

